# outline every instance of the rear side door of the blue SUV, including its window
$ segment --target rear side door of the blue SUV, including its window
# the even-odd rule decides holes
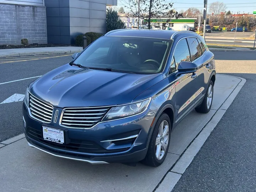
[[[201,46],[198,42],[198,39],[196,37],[190,37],[187,39],[188,44],[190,47],[190,53],[191,53],[191,62],[197,64],[198,69],[196,72],[197,75],[197,84],[196,86],[196,95],[195,95],[195,102],[200,100],[203,97],[203,94],[205,90],[207,89],[207,84],[209,80],[209,74],[207,73],[207,61],[203,56]]]

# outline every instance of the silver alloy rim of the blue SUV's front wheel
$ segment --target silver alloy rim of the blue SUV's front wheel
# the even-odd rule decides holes
[[[167,146],[169,142],[169,124],[164,120],[158,129],[158,135],[155,142],[156,159],[161,160],[165,153],[167,153]]]

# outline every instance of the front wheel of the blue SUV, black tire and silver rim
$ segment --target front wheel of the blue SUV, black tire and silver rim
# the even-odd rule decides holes
[[[166,123],[169,127],[169,131],[168,133],[165,135],[165,137],[159,137],[161,135],[161,133],[159,132],[160,130],[160,125],[164,124],[163,130],[165,130],[166,128]],[[153,166],[153,167],[158,167],[159,165],[161,165],[167,155],[168,149],[169,149],[169,145],[170,145],[170,137],[171,137],[171,121],[169,116],[166,113],[162,113],[161,116],[159,117],[158,121],[155,124],[153,133],[151,135],[150,138],[150,142],[149,142],[149,146],[148,146],[148,152],[146,154],[145,159],[142,160],[142,163],[145,165],[149,165],[149,166]],[[163,131],[164,132],[164,131]],[[167,138],[168,136],[168,138]],[[158,139],[159,144],[156,144],[156,139]],[[167,143],[168,141],[168,143]],[[162,153],[162,149],[164,149],[164,146],[162,145],[162,143],[165,144],[166,146],[166,150],[165,153]],[[166,144],[167,143],[167,144]],[[158,153],[159,156],[157,158],[156,156],[156,152],[158,152],[158,149],[161,149],[160,152]]]

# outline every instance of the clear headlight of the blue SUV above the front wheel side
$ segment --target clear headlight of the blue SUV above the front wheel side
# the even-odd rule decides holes
[[[107,112],[107,114],[102,119],[102,121],[119,119],[119,118],[128,117],[128,116],[132,116],[134,114],[143,112],[146,109],[146,107],[148,107],[150,101],[151,101],[151,97],[137,103],[112,107]]]

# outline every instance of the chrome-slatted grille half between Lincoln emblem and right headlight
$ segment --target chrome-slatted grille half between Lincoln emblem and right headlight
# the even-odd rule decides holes
[[[66,108],[61,125],[68,128],[90,129],[107,113],[110,107]]]

